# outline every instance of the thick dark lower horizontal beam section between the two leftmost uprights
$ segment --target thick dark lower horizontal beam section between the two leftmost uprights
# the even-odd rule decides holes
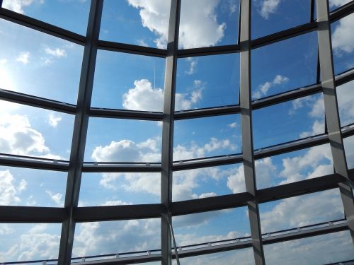
[[[141,218],[159,218],[166,213],[163,204],[137,204],[117,206],[77,207],[74,220],[80,222],[98,222],[107,220],[130,220]]]

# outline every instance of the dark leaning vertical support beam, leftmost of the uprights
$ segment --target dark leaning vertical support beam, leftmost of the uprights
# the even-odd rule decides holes
[[[75,221],[74,208],[79,201],[82,164],[84,161],[87,127],[89,125],[89,110],[95,73],[97,42],[100,32],[103,0],[92,0],[89,14],[89,23],[86,33],[86,44],[81,66],[79,93],[72,137],[72,151],[70,153],[67,190],[65,193],[64,208],[67,211],[67,220],[62,224],[62,236],[59,245],[59,265],[69,265],[72,257],[74,242]]]

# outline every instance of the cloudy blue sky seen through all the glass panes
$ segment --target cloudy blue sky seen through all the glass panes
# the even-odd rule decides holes
[[[330,0],[331,10],[347,2]],[[3,1],[4,8],[81,35],[86,33],[89,6],[88,0]],[[309,8],[309,0],[253,0],[252,38],[309,22]],[[179,48],[236,44],[238,16],[238,0],[183,0]],[[100,39],[165,49],[168,20],[169,1],[105,0]],[[354,15],[331,27],[338,74],[354,66],[354,40],[349,34]],[[0,20],[0,40],[0,88],[76,104],[83,47],[6,20]],[[315,83],[316,57],[316,32],[254,49],[253,100]],[[161,58],[98,51],[91,107],[161,112],[164,71]],[[353,86],[354,81],[337,90],[342,126],[354,122]],[[239,54],[178,59],[176,111],[238,101]],[[0,110],[0,153],[69,160],[73,115],[3,101]],[[84,160],[159,162],[161,132],[159,122],[90,118]],[[321,93],[253,112],[255,148],[323,132]],[[354,167],[354,137],[344,143],[348,165]],[[175,122],[174,160],[234,153],[241,153],[239,114]],[[328,144],[255,164],[258,189],[333,172]],[[0,167],[0,204],[62,207],[66,180],[64,172]],[[173,201],[244,191],[241,163],[173,172]],[[84,173],[79,206],[153,204],[160,197],[157,173]],[[260,211],[264,232],[343,218],[338,189],[261,204]],[[159,219],[78,224],[73,256],[159,248],[159,224]],[[247,208],[178,216],[173,226],[178,245],[250,233]],[[0,261],[56,258],[60,230],[60,224],[0,224]],[[321,249],[329,246],[324,254]],[[353,258],[348,231],[265,247],[269,264]],[[251,249],[186,258],[183,264],[215,264],[216,259],[223,264],[253,264]]]

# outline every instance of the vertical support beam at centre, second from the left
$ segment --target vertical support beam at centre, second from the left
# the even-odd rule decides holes
[[[164,117],[162,119],[161,148],[161,204],[166,214],[161,216],[161,264],[171,264],[171,233],[172,223],[169,208],[172,202],[172,163],[173,163],[173,124],[176,92],[176,68],[178,51],[178,28],[181,11],[181,0],[171,0],[169,37],[167,40],[167,57],[164,88]]]

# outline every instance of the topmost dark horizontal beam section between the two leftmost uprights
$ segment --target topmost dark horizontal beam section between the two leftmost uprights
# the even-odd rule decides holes
[[[125,52],[130,54],[139,54],[152,57],[166,57],[166,49],[157,49],[152,47],[144,47],[138,45],[130,45],[119,42],[109,42],[106,40],[98,40],[98,49],[104,49],[112,52]]]

